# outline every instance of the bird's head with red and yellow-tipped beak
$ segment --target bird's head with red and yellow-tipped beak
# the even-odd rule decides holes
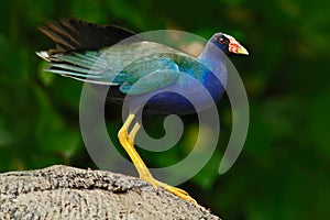
[[[211,43],[216,44],[224,54],[244,54],[249,55],[246,48],[244,48],[234,37],[223,33],[215,34]]]

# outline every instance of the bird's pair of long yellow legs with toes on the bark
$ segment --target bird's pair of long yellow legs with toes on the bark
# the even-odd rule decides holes
[[[122,125],[122,128],[120,129],[120,131],[118,132],[118,138],[121,145],[124,147],[130,158],[132,160],[134,166],[136,167],[140,178],[150,183],[155,189],[160,186],[165,190],[170,191],[172,194],[197,205],[196,200],[193,199],[185,190],[154,179],[154,177],[145,166],[144,162],[138,154],[136,150],[134,148],[134,138],[138,131],[140,130],[141,125],[139,123],[135,123],[129,135],[128,130],[133,120],[134,120],[134,114],[130,114],[127,121],[124,122],[124,124]]]

